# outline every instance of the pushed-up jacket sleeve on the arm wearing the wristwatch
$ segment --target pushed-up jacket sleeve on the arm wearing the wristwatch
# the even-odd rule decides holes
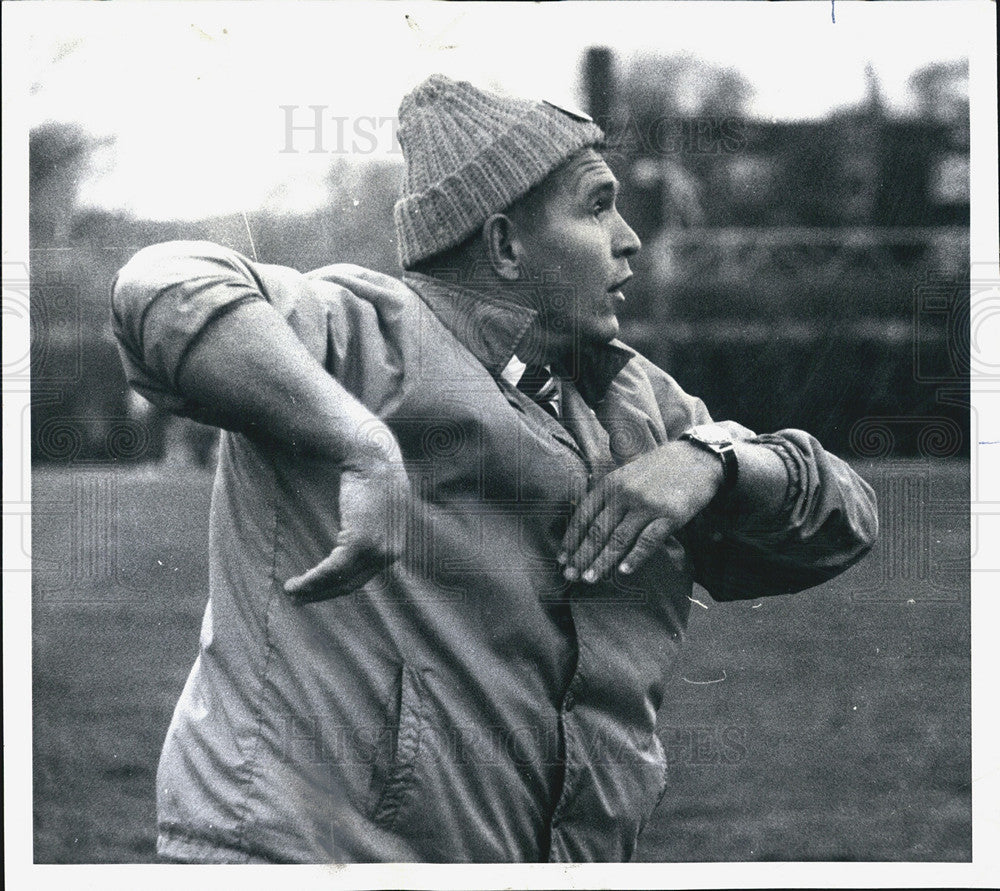
[[[715,600],[811,588],[871,550],[878,534],[875,494],[846,462],[801,430],[747,441],[777,453],[788,472],[788,488],[777,516],[740,518],[723,503],[682,531],[695,580]]]

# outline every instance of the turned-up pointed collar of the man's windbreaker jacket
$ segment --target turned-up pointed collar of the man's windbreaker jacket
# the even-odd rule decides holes
[[[538,318],[530,307],[419,272],[404,273],[403,282],[495,378],[502,375]],[[633,355],[616,340],[587,350],[577,369],[554,370],[573,380],[587,402],[595,405]]]

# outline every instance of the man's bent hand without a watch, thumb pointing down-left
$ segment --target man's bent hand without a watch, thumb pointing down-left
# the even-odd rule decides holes
[[[392,434],[385,429],[388,438]],[[383,441],[384,441],[384,437]],[[410,483],[395,441],[379,457],[352,462],[340,477],[340,532],[321,563],[285,582],[298,603],[350,594],[403,553]]]

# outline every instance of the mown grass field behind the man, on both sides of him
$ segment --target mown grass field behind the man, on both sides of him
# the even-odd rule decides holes
[[[698,595],[637,859],[969,859],[969,467],[859,470],[883,524],[864,564],[794,597]],[[44,468],[33,485],[35,860],[151,861],[211,480]]]

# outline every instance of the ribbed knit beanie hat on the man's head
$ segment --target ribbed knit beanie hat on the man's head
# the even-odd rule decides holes
[[[574,152],[604,141],[586,115],[432,74],[403,97],[406,173],[396,202],[404,269],[460,244]]]

